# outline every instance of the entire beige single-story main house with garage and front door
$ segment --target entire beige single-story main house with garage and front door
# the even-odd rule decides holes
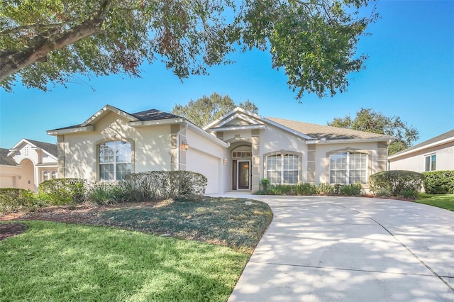
[[[190,170],[208,178],[206,194],[257,191],[272,184],[353,184],[367,189],[384,171],[388,135],[279,118],[236,108],[201,129],[156,109],[104,106],[57,136],[59,177],[115,181],[131,172]]]

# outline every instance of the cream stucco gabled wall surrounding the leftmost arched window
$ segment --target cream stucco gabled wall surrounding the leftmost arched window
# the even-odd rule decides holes
[[[65,177],[98,180],[97,146],[111,140],[131,142],[133,172],[171,169],[170,125],[133,128],[126,118],[109,113],[93,132],[67,134],[64,142],[59,140],[60,149],[65,150]]]

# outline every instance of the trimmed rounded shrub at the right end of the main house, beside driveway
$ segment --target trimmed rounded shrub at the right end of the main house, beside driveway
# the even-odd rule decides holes
[[[400,197],[404,192],[421,191],[423,174],[413,171],[394,170],[372,174],[369,178],[370,191],[389,191],[391,196]]]

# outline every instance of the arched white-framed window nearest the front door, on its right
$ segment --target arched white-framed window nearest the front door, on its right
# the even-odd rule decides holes
[[[266,177],[271,184],[297,184],[299,156],[287,153],[268,155]]]

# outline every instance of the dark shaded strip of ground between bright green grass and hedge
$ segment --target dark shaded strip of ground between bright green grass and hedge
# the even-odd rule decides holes
[[[272,211],[260,201],[246,206],[245,199],[201,198],[101,207],[54,207],[0,218],[8,219],[114,226],[226,245],[251,254],[271,223]]]

